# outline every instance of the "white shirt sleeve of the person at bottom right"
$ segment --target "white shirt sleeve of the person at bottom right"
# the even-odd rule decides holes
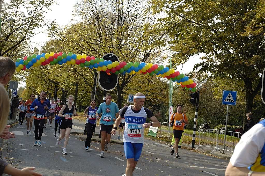
[[[244,133],[236,144],[230,162],[235,167],[249,167],[252,165],[265,143],[265,127],[262,124],[254,125]]]

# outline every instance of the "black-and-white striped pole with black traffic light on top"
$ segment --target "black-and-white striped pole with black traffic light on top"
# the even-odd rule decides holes
[[[197,129],[197,118],[198,118],[198,109],[199,109],[199,96],[200,92],[191,93],[191,99],[189,100],[193,105],[196,106],[194,123],[193,123],[193,134],[192,134],[192,143],[191,148],[195,148],[195,135]]]

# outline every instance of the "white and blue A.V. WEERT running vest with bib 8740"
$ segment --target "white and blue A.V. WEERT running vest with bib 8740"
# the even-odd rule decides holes
[[[147,114],[144,111],[144,107],[138,113],[134,113],[131,107],[132,105],[128,106],[124,114],[125,130],[123,133],[123,142],[144,143],[143,124],[146,121]]]

